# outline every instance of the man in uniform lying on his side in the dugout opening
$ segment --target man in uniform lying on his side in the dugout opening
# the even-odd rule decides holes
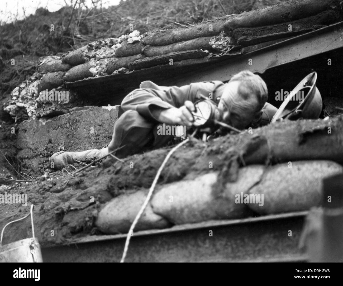
[[[158,125],[190,128],[194,103],[204,96],[217,105],[215,118],[236,129],[268,124],[277,111],[267,103],[265,82],[250,71],[234,75],[228,83],[209,81],[166,87],[145,81],[123,99],[121,107],[125,112],[115,122],[112,140],[106,148],[57,152],[50,158],[50,167],[58,170],[77,161],[91,161],[124,145],[116,151],[118,158],[166,146],[174,136],[158,135]]]

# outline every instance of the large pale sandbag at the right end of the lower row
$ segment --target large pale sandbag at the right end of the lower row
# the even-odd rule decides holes
[[[247,204],[251,210],[259,214],[308,210],[321,201],[323,178],[343,172],[341,165],[327,160],[291,163],[265,170],[262,181],[249,191],[252,195],[263,194],[264,204]]]

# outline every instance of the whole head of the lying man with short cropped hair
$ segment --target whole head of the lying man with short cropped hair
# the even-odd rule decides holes
[[[223,121],[244,129],[262,115],[268,99],[268,89],[259,75],[241,71],[226,84],[218,108],[223,112]]]

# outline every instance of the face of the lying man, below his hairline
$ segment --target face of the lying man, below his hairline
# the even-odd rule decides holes
[[[238,91],[239,84],[239,81],[228,83],[218,104],[218,109],[223,112],[225,123],[237,129],[244,129],[255,119],[258,101],[253,94],[241,96]]]

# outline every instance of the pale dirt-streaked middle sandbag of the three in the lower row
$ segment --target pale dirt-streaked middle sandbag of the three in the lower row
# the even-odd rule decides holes
[[[152,209],[175,224],[246,217],[250,214],[248,207],[236,204],[235,195],[257,183],[263,168],[262,165],[241,168],[238,181],[227,183],[224,191],[213,189],[218,172],[167,184],[153,196]]]

